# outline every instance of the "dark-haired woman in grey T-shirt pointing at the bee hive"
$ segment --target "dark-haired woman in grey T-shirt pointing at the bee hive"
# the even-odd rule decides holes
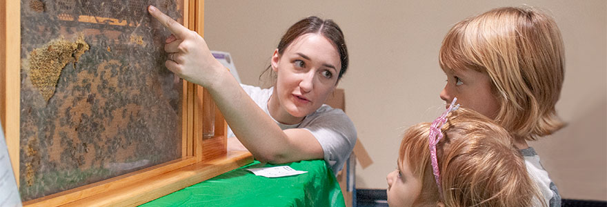
[[[291,26],[268,67],[276,73],[275,86],[261,89],[239,85],[196,32],[153,6],[148,10],[172,32],[166,67],[210,92],[255,159],[281,164],[324,158],[334,173],[341,170],[357,136],[343,111],[323,105],[348,68],[337,24],[308,17]]]

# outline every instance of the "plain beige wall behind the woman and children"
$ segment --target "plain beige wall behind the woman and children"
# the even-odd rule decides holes
[[[559,115],[569,125],[532,145],[564,198],[607,200],[607,1],[205,1],[212,50],[232,53],[243,83],[259,85],[281,34],[303,17],[334,19],[346,34],[346,110],[375,164],[357,188],[386,188],[401,133],[444,110],[442,38],[457,21],[499,6],[537,6],[563,33]]]

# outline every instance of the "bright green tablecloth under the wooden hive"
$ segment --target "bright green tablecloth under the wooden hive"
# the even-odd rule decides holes
[[[267,178],[246,168],[290,166],[301,175]],[[252,164],[183,188],[141,206],[346,206],[339,184],[322,159]]]

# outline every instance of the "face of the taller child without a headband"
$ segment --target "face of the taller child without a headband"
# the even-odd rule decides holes
[[[499,111],[499,102],[491,89],[491,79],[484,72],[476,70],[444,70],[447,83],[440,97],[446,107],[457,97],[457,103],[475,110],[481,115],[494,119]]]

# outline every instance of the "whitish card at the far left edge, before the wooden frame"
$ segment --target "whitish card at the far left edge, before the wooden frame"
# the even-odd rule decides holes
[[[21,206],[17,181],[12,173],[4,132],[0,127],[0,206]]]

